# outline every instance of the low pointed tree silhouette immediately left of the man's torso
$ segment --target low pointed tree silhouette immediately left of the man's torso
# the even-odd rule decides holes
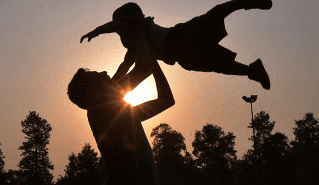
[[[57,185],[64,184],[94,184],[96,181],[106,181],[107,169],[102,157],[90,144],[85,144],[81,153],[75,155],[73,152],[68,157],[65,176],[57,181]]]

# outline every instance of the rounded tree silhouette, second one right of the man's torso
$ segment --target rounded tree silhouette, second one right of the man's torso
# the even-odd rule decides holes
[[[195,164],[205,184],[230,181],[230,170],[237,160],[233,133],[225,134],[221,127],[207,124],[201,131],[196,131],[192,146]]]

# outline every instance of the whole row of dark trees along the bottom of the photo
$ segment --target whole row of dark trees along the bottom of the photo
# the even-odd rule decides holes
[[[85,144],[78,154],[68,157],[65,174],[53,182],[53,165],[48,158],[51,126],[36,112],[21,121],[26,135],[18,170],[4,170],[0,143],[0,185],[102,185],[107,169],[101,156]],[[196,131],[192,152],[185,138],[168,124],[152,130],[153,154],[161,185],[317,185],[319,182],[319,122],[313,113],[295,120],[290,141],[273,132],[275,122],[261,111],[248,128],[253,145],[240,159],[236,155],[235,135],[221,127],[206,124]],[[125,178],[125,177],[123,177]]]

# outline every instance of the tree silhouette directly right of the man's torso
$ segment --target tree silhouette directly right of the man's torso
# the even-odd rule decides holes
[[[185,138],[161,123],[152,130],[153,154],[160,174],[161,185],[187,184],[192,158],[186,150]]]

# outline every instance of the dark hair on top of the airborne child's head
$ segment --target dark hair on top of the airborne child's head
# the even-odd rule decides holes
[[[145,15],[143,14],[141,7],[137,3],[128,2],[117,8],[113,12],[113,20],[121,16],[143,18]]]

